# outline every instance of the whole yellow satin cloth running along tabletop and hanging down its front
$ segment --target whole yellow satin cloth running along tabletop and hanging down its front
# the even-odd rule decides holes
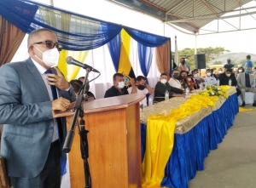
[[[225,91],[230,89],[229,86],[221,88]],[[148,117],[146,151],[143,159],[143,188],[160,188],[166,163],[172,154],[177,121],[201,111],[201,108],[215,106],[217,101],[218,96],[195,94],[177,109]]]

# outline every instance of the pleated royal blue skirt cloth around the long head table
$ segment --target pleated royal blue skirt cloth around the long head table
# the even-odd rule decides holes
[[[212,111],[188,133],[175,134],[161,186],[189,188],[189,179],[195,177],[197,170],[204,169],[204,158],[210,150],[218,148],[218,143],[233,125],[237,112],[237,94],[232,94],[217,111]],[[146,148],[146,128],[145,124],[141,124],[141,136],[144,136],[141,138],[142,159]]]

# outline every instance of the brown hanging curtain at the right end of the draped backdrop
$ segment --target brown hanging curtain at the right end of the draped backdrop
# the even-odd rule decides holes
[[[167,75],[169,75],[170,71],[170,45],[170,40],[168,40],[160,47],[155,48],[155,59],[157,69],[158,71],[160,71],[160,73],[166,73]]]

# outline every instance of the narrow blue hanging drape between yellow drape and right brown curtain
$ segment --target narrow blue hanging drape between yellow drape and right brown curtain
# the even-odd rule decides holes
[[[138,48],[138,59],[140,62],[141,70],[143,72],[143,76],[146,77],[147,79],[148,71],[152,63],[153,48],[144,46],[141,43],[137,43],[137,48]]]

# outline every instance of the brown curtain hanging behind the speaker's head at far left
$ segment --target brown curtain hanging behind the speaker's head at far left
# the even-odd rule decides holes
[[[10,62],[26,33],[0,15],[0,66]]]

